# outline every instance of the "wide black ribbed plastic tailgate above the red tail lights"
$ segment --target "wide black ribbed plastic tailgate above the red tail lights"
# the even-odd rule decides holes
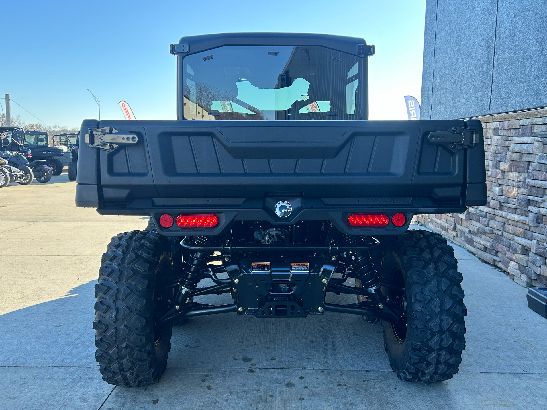
[[[80,144],[85,147],[79,151],[78,183],[98,185],[79,189],[80,206],[93,206],[95,189],[98,208],[106,213],[148,213],[151,207],[182,205],[185,198],[237,202],[289,195],[321,198],[330,206],[391,201],[414,213],[461,212],[486,201],[477,120],[101,121],[100,126],[138,136],[137,144],[113,151]],[[98,127],[86,120],[82,134]],[[473,128],[475,147],[451,150],[429,142],[430,132],[452,127]]]

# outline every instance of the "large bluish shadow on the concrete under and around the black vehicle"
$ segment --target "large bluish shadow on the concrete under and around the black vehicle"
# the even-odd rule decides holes
[[[516,327],[508,315],[509,288],[501,278],[489,279],[503,288],[505,307],[488,292],[468,291],[468,350],[461,372],[447,382],[399,380],[383,349],[381,325],[358,316],[256,319],[227,313],[173,327],[167,369],[158,384],[114,390],[101,380],[94,358],[93,280],[65,297],[0,316],[0,402],[10,409],[539,408],[545,404],[547,375],[542,362],[533,362],[545,355],[523,356],[515,349],[523,352],[526,343],[514,341],[520,337],[534,345],[547,327],[520,327],[521,334],[511,338],[517,335],[511,335]],[[329,299],[353,302],[352,296]],[[231,298],[202,296],[199,301],[227,303]],[[509,344],[489,339],[492,325],[479,315],[504,318],[493,326],[509,333]],[[526,362],[528,371],[511,372],[514,366],[504,361]],[[511,371],[504,372],[504,366]]]

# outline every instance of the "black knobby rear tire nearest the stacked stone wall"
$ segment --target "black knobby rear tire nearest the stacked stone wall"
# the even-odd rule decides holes
[[[458,372],[467,309],[454,250],[437,233],[408,231],[388,239],[382,277],[406,290],[406,326],[382,321],[389,364],[402,380],[441,382]],[[383,289],[396,297],[402,291]]]

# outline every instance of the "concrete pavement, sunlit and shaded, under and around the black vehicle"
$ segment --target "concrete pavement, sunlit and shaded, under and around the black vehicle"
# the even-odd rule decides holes
[[[94,284],[109,238],[144,229],[147,220],[75,208],[74,188],[63,173],[48,184],[0,190],[0,408],[547,406],[547,320],[527,308],[525,288],[459,247],[467,348],[451,380],[399,380],[389,367],[381,326],[357,316],[260,320],[222,314],[173,328],[158,384],[113,388],[102,381],[94,358]]]

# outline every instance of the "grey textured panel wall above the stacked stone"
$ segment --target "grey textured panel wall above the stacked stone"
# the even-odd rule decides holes
[[[547,0],[427,0],[421,116],[547,107]]]

